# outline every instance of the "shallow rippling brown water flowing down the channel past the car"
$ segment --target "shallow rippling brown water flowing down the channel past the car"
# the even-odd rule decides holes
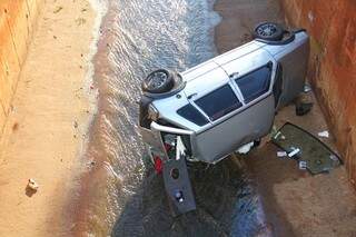
[[[195,167],[198,209],[170,216],[164,184],[137,129],[140,82],[154,69],[182,71],[217,52],[219,17],[207,0],[111,0],[95,59],[98,113],[88,145],[76,228],[111,236],[254,236],[258,197],[231,160]]]

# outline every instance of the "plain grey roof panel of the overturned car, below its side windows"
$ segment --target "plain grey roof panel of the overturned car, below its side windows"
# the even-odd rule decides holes
[[[275,110],[270,109],[274,105],[274,96],[269,93],[233,118],[198,134],[194,142],[197,158],[215,164],[240,146],[266,136],[274,122]]]

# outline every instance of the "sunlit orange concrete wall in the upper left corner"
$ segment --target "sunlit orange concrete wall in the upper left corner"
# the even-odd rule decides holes
[[[0,139],[43,0],[0,0]]]

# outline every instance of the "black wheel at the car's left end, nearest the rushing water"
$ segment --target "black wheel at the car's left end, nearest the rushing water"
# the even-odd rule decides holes
[[[164,93],[172,89],[175,80],[171,72],[166,69],[158,69],[149,73],[141,86],[145,92]]]

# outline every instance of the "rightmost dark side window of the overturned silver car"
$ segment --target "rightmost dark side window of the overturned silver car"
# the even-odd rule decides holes
[[[265,66],[246,76],[237,78],[237,86],[240,88],[245,102],[248,103],[264,95],[269,89],[270,67]]]

